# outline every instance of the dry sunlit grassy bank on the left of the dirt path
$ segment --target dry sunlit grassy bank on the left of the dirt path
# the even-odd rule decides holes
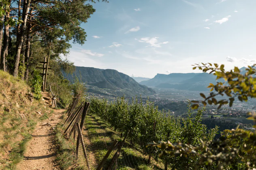
[[[0,71],[0,169],[15,169],[37,122],[51,113],[43,101],[30,101],[30,91],[24,81]]]

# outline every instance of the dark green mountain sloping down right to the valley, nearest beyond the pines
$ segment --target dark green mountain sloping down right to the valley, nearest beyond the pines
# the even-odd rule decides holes
[[[155,91],[145,85],[140,85],[126,74],[111,69],[98,69],[92,67],[76,66],[73,75],[64,74],[64,76],[73,81],[73,77],[81,77],[88,87],[88,92],[96,94],[106,94],[112,96],[135,96],[154,94]]]

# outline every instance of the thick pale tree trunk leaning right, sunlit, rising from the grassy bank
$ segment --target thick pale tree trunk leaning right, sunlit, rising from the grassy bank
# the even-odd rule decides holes
[[[22,20],[23,23],[21,24],[21,30],[19,33],[19,40],[17,42],[17,48],[16,48],[16,56],[15,56],[15,62],[14,62],[14,68],[13,68],[13,76],[17,77],[19,74],[19,59],[21,54],[21,47],[24,40],[24,35],[26,31],[26,25],[27,25],[27,19],[28,19],[28,12],[30,8],[30,2],[31,0],[24,0],[23,2],[23,11],[22,11]]]

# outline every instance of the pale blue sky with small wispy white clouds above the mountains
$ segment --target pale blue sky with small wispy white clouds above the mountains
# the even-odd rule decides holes
[[[243,67],[256,63],[256,0],[109,0],[82,27],[75,66],[129,76],[196,72],[192,64]]]

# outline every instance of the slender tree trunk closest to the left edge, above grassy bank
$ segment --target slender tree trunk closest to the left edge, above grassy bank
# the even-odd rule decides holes
[[[11,3],[11,1],[10,1]],[[8,55],[8,46],[9,46],[9,18],[10,18],[10,11],[6,12],[6,15],[4,17],[4,23],[7,23],[4,25],[4,41],[3,41],[3,49],[1,51],[1,64],[0,69],[3,71],[6,71],[6,55]]]

